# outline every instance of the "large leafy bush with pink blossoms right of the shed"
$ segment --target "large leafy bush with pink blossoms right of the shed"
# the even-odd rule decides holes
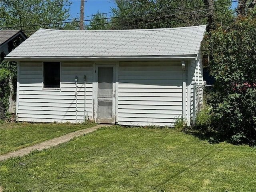
[[[206,37],[210,73],[212,127],[235,143],[256,145],[256,8],[238,17],[229,30]]]

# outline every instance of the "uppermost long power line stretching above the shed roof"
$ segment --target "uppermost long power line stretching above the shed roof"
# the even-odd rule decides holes
[[[235,0],[233,2],[237,2],[239,0]],[[229,2],[222,2],[218,4],[227,4]],[[218,5],[218,4],[210,4],[210,5]],[[246,3],[250,4],[250,3]],[[244,4],[245,5],[245,4]],[[209,6],[209,5],[208,5]],[[224,6],[224,7],[231,7],[230,6]],[[99,18],[99,19],[90,19],[90,20],[84,20],[86,21],[95,21],[95,20],[102,20],[102,19],[112,19],[112,18],[124,18],[124,17],[130,17],[130,16],[140,16],[140,15],[146,15],[146,14],[156,14],[156,13],[162,13],[162,12],[171,12],[171,11],[177,11],[177,10],[186,10],[186,9],[192,9],[192,8],[199,8],[199,7],[205,7],[205,6],[194,6],[194,7],[189,7],[189,8],[180,8],[180,9],[173,9],[173,10],[165,10],[165,11],[159,11],[159,12],[148,12],[148,13],[143,13],[143,14],[134,14],[134,15],[126,15],[126,16],[118,16],[118,17],[109,17],[109,18]],[[224,8],[220,7],[220,8]],[[213,8],[213,9],[218,9],[218,8]],[[206,10],[212,10],[212,9],[205,9]],[[199,11],[199,10],[198,10]],[[203,10],[202,10],[203,11]],[[102,13],[104,14],[104,13]],[[183,13],[176,13],[176,14],[183,14]],[[79,21],[70,21],[70,22],[56,22],[56,23],[46,23],[46,24],[32,24],[32,25],[26,25],[26,26],[12,26],[12,27],[2,27],[2,28],[21,28],[21,27],[28,27],[28,26],[44,26],[44,25],[54,25],[54,24],[66,24],[66,23],[74,23],[74,22],[79,22]]]

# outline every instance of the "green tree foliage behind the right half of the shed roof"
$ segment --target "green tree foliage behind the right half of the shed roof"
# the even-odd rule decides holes
[[[230,0],[216,0],[213,24],[223,28],[234,20]],[[220,8],[223,7],[223,8]],[[114,29],[170,28],[207,24],[203,0],[116,0]],[[115,18],[116,17],[116,18]]]

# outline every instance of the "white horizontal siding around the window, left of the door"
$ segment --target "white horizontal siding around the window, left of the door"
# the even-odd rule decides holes
[[[42,62],[20,62],[19,121],[84,121],[84,75],[86,75],[86,118],[92,117],[92,62],[61,62],[60,90],[43,89]]]

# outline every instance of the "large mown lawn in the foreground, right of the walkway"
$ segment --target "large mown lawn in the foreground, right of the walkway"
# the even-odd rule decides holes
[[[4,192],[253,192],[256,149],[111,126],[0,162]]]

